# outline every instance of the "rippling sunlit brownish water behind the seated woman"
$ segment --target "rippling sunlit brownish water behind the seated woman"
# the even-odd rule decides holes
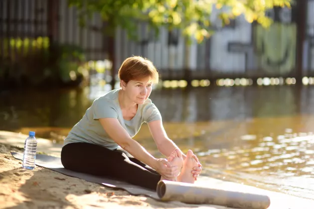
[[[0,129],[62,143],[106,85],[0,93]],[[155,89],[168,136],[202,175],[314,199],[314,86]],[[147,125],[135,137],[160,157]]]

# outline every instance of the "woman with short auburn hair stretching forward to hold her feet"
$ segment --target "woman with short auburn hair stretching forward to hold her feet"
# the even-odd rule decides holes
[[[153,63],[130,57],[121,65],[119,78],[121,88],[96,99],[65,138],[63,166],[152,190],[160,180],[194,183],[201,164],[191,150],[184,155],[167,137],[160,113],[148,99],[158,82]],[[132,139],[144,122],[167,159],[154,158]]]

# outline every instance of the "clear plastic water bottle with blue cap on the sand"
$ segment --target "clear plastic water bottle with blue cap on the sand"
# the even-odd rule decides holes
[[[36,160],[37,140],[35,132],[29,131],[29,136],[25,140],[24,154],[23,154],[23,168],[34,169]]]

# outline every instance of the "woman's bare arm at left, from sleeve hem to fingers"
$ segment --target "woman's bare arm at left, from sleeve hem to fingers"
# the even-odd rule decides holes
[[[164,178],[173,178],[173,174],[177,168],[170,167],[166,159],[156,159],[153,157],[144,147],[130,137],[117,118],[100,118],[99,121],[108,135],[124,150],[136,159],[157,170]]]

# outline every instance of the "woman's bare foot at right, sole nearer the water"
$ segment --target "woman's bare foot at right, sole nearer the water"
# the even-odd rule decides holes
[[[198,167],[198,159],[196,155],[193,154],[192,150],[188,150],[183,162],[182,171],[178,176],[178,181],[193,184],[195,178],[193,177],[193,174],[191,174],[191,171],[194,167]]]

